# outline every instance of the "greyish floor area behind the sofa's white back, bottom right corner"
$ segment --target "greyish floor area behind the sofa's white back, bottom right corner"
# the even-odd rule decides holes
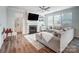
[[[79,38],[74,38],[63,53],[79,53]]]

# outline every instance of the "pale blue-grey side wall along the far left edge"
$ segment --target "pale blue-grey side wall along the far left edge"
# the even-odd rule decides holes
[[[7,23],[7,7],[0,6],[0,48],[3,43],[2,30],[6,28]]]

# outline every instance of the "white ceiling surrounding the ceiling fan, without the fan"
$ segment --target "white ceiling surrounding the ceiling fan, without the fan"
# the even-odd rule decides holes
[[[55,11],[62,10],[62,9],[66,9],[66,8],[70,8],[72,6],[49,6],[49,7],[50,8],[47,11],[43,11],[39,8],[39,6],[16,6],[16,8],[24,9],[27,12],[41,14],[41,15],[55,12]]]

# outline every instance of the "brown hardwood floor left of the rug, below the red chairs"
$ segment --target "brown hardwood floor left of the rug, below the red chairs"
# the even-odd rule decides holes
[[[37,50],[32,44],[30,44],[22,34],[18,34],[17,37],[7,37],[0,50],[1,53],[55,53],[53,50],[43,47]]]

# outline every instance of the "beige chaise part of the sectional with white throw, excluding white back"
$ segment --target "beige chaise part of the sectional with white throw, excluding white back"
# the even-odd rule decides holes
[[[59,50],[60,50],[60,39],[55,37],[53,35],[53,33],[49,33],[49,32],[37,33],[36,39],[39,42],[41,42],[42,44],[44,44],[45,46],[54,50],[55,52],[59,52]]]

